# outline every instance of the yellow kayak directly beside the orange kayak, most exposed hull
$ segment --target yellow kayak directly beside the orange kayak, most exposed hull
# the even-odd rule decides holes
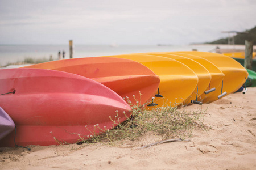
[[[137,61],[158,75],[160,77],[160,85],[159,91],[156,92],[154,99],[154,103],[158,107],[165,105],[175,107],[183,103],[192,94],[198,82],[196,74],[189,67],[174,59],[144,54],[125,54],[105,57],[126,58]],[[154,103],[152,102],[150,106],[154,105]],[[147,107],[147,109],[151,108]]]

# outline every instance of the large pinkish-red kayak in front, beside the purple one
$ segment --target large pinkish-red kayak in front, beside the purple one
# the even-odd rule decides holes
[[[16,124],[16,145],[79,142],[130,116],[130,106],[118,94],[76,74],[1,69],[0,84],[0,105]],[[110,120],[115,119],[116,111],[119,122]],[[14,132],[3,138],[0,146],[14,146]]]

